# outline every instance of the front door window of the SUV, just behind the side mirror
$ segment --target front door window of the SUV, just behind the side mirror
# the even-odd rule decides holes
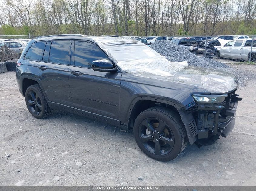
[[[83,41],[75,41],[75,66],[91,68],[92,61],[102,59],[108,60],[108,57],[96,45]]]

